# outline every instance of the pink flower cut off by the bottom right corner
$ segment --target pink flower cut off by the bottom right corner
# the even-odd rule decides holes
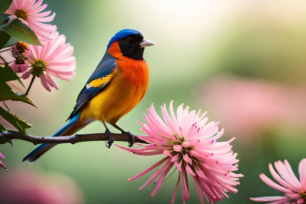
[[[256,202],[271,202],[269,204],[306,204],[306,158],[302,159],[299,164],[300,181],[294,175],[289,162],[285,159],[274,162],[274,170],[269,163],[269,170],[272,177],[278,183],[269,179],[266,175],[261,174],[259,177],[268,186],[285,193],[285,196],[267,196],[250,198]]]

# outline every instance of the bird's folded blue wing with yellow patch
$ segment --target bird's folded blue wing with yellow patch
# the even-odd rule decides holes
[[[98,92],[103,91],[109,85],[113,77],[112,73],[116,68],[116,58],[111,56],[107,50],[97,68],[87,80],[86,85],[79,93],[77,103],[68,119],[71,119],[73,115],[82,109],[93,96],[95,96]]]

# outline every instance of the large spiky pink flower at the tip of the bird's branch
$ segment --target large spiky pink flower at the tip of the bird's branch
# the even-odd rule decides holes
[[[196,184],[201,204],[204,204],[203,194],[209,203],[216,203],[222,198],[228,198],[226,192],[236,193],[234,186],[242,174],[233,173],[238,170],[237,153],[233,154],[229,141],[217,142],[223,130],[218,131],[218,123],[207,123],[205,113],[199,115],[196,111],[189,112],[189,107],[183,109],[180,105],[175,112],[173,101],[170,103],[170,115],[166,106],[161,107],[163,120],[157,115],[152,104],[148,109],[148,116],[144,114],[147,124],[141,130],[149,136],[139,136],[149,145],[143,149],[131,149],[116,145],[137,155],[165,155],[153,166],[131,178],[137,179],[161,165],[156,173],[139,189],[142,190],[149,183],[157,184],[151,196],[154,196],[165,180],[170,169],[174,166],[178,170],[178,178],[171,203],[174,203],[179,182],[182,182],[183,201],[190,199],[188,188],[188,174]],[[139,144],[140,145],[140,144]]]

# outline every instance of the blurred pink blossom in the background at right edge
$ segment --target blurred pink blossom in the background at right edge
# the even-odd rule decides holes
[[[227,132],[248,132],[240,141],[253,142],[254,136],[278,126],[305,125],[305,85],[219,75],[202,86],[197,100],[222,119]]]

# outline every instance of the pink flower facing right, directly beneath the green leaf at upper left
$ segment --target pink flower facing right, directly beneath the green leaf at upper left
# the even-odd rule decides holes
[[[44,46],[29,45],[31,53],[24,62],[30,66],[22,78],[26,79],[30,74],[40,77],[44,88],[51,91],[50,86],[59,89],[50,75],[60,79],[70,80],[75,75],[75,57],[73,46],[66,43],[65,35],[59,35],[57,31],[52,33],[53,40],[47,41]]]

